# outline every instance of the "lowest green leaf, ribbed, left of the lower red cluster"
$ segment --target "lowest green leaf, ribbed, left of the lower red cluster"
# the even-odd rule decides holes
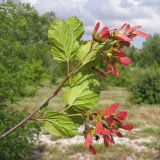
[[[73,137],[77,134],[77,127],[71,118],[57,112],[45,114],[44,127],[51,134],[58,136]]]

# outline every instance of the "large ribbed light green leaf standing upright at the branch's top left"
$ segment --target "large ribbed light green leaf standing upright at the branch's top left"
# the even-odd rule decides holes
[[[51,51],[58,62],[69,62],[79,49],[72,28],[63,20],[56,20],[51,24],[48,37],[53,42]]]

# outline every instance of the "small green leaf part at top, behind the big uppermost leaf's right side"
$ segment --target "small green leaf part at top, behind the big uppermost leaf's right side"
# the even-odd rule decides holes
[[[80,40],[84,33],[83,23],[77,17],[69,17],[67,20],[70,28],[72,29],[76,39]]]

